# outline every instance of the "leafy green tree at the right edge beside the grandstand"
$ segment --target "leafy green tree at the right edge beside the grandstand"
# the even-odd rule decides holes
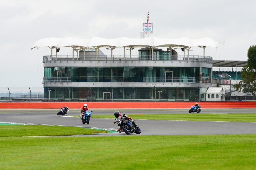
[[[252,93],[253,100],[255,100],[256,93],[256,46],[250,46],[247,52],[247,66],[241,71],[241,79],[237,84],[234,84],[233,87],[237,91],[243,91]]]

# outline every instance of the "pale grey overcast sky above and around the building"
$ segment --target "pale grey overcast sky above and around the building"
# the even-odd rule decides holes
[[[30,50],[37,40],[139,38],[148,8],[153,36],[210,37],[225,43],[206,48],[207,56],[247,60],[247,49],[256,44],[255,6],[255,0],[1,0],[0,87],[43,87],[42,58],[50,49]]]

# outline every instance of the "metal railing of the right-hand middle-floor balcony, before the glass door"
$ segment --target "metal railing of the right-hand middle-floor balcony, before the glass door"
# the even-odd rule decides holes
[[[143,77],[144,83],[196,83],[195,77]]]

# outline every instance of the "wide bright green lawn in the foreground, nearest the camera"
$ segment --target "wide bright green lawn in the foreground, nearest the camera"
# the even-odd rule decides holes
[[[255,148],[256,134],[0,137],[0,167],[26,170],[255,169]]]

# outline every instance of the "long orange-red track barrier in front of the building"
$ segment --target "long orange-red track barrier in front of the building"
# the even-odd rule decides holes
[[[93,108],[190,108],[195,102],[86,102]],[[198,102],[202,108],[256,108],[256,102]],[[82,108],[84,102],[0,102],[2,109],[19,108]]]

